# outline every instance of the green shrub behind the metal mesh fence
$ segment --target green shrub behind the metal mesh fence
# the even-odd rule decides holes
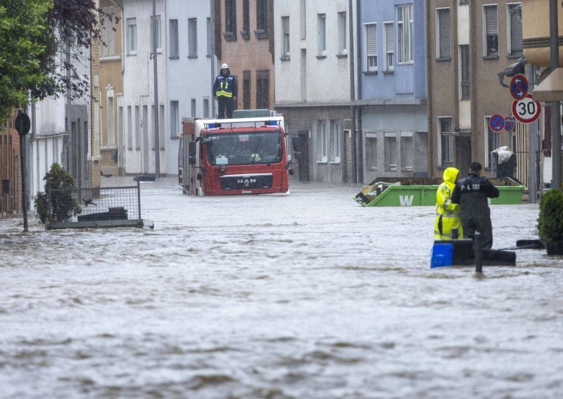
[[[82,208],[72,198],[72,190],[60,190],[64,188],[75,188],[75,179],[61,166],[54,163],[49,172],[43,178],[45,181],[45,192],[37,192],[34,199],[37,216],[42,223],[48,221],[68,221],[73,215],[82,213]],[[57,190],[54,191],[53,190]]]

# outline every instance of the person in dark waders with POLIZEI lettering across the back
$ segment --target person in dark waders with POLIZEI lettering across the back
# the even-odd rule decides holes
[[[493,247],[493,226],[491,225],[491,209],[488,198],[496,198],[498,189],[486,178],[481,176],[481,164],[472,162],[467,177],[457,181],[452,193],[452,202],[460,204],[460,219],[463,235],[473,238],[475,232],[481,233],[481,246],[486,249]]]

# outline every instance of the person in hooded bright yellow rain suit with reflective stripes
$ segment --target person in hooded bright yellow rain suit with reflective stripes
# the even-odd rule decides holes
[[[460,171],[446,168],[444,182],[436,191],[436,223],[434,223],[434,237],[438,240],[451,240],[452,228],[457,228],[457,237],[462,238],[462,222],[460,220],[460,205],[451,200],[455,182]]]

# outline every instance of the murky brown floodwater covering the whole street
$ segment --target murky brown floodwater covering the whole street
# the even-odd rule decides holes
[[[434,207],[359,187],[162,178],[154,230],[0,218],[0,398],[560,398],[563,258],[430,269]],[[493,248],[537,238],[537,204],[491,214]]]

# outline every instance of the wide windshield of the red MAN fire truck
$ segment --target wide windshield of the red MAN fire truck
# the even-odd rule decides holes
[[[210,165],[272,164],[281,161],[281,131],[208,134]]]

